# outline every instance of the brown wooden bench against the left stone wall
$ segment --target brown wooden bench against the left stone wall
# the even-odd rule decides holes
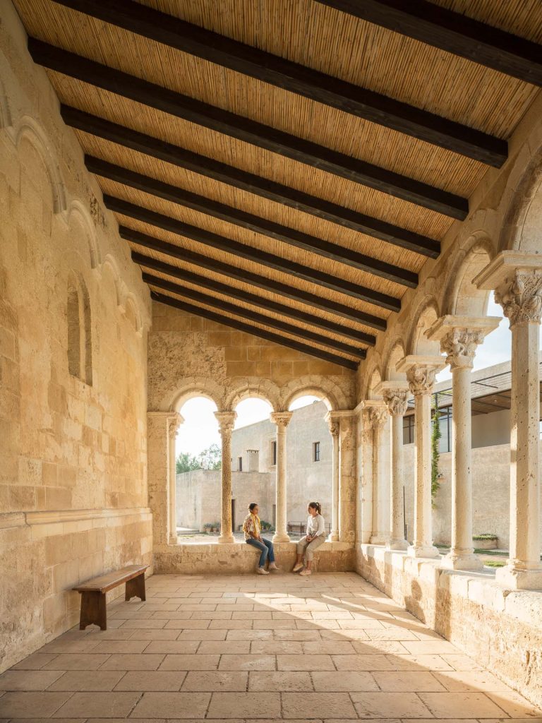
[[[149,565],[128,565],[114,573],[101,575],[99,578],[89,580],[82,585],[74,587],[81,594],[81,617],[79,630],[85,630],[87,625],[99,625],[107,630],[106,592],[126,583],[125,600],[139,597],[145,600],[145,570]]]

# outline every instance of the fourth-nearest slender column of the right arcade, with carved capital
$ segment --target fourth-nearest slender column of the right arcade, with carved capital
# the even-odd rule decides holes
[[[389,388],[384,390],[384,402],[392,418],[391,476],[390,476],[390,542],[388,549],[405,550],[405,511],[403,508],[403,416],[407,409],[408,390]]]

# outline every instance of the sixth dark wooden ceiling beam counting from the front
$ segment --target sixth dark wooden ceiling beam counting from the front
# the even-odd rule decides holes
[[[302,278],[304,281],[309,281],[324,288],[330,288],[339,294],[352,296],[353,299],[360,299],[360,301],[375,304],[376,306],[382,307],[382,309],[390,309],[390,311],[397,312],[401,308],[400,299],[395,299],[394,296],[390,296],[389,294],[382,294],[382,292],[374,291],[372,288],[366,288],[365,286],[359,286],[357,283],[337,278],[336,275],[325,273],[324,271],[319,271],[288,259],[283,259],[280,256],[262,251],[249,244],[241,244],[240,241],[226,239],[225,236],[219,236],[218,234],[213,234],[211,231],[205,231],[203,228],[191,226],[189,223],[178,221],[177,218],[171,218],[171,216],[166,216],[163,213],[156,213],[148,208],[143,208],[142,206],[124,201],[120,198],[108,196],[107,194],[104,194],[103,202],[109,210],[115,213],[121,213],[130,218],[135,218],[137,221],[150,224],[150,226],[163,228],[165,231],[171,231],[173,234],[184,236],[186,239],[192,239],[192,241],[197,241],[199,244],[204,244],[212,249],[233,254],[240,259],[260,264],[265,268],[293,275],[296,278]],[[185,252],[185,249],[181,250],[183,253]]]

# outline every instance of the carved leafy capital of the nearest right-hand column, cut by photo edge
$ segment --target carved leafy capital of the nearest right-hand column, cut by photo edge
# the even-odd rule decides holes
[[[542,270],[517,270],[512,281],[495,289],[495,301],[501,304],[510,328],[525,322],[540,323],[542,317]]]

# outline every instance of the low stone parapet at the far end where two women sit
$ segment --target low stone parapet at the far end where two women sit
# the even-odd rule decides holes
[[[259,552],[245,542],[176,544],[155,547],[155,573],[236,575],[255,573]],[[277,565],[288,572],[296,560],[296,542],[275,544]],[[314,553],[314,572],[342,573],[354,570],[355,549],[348,542],[324,542]]]

